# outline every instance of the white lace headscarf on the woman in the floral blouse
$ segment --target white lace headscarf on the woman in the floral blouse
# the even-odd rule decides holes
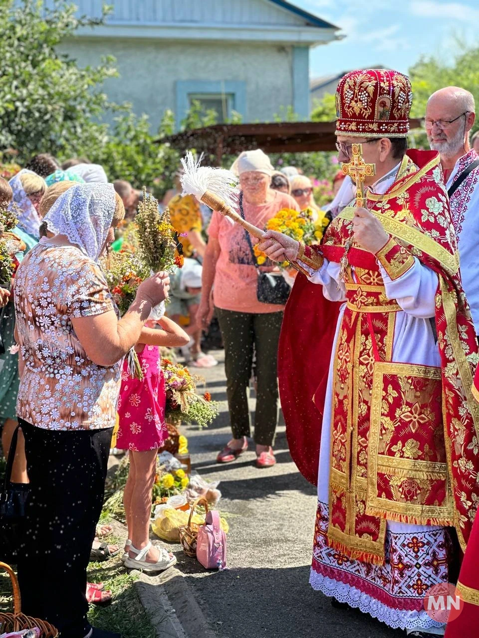
[[[66,235],[85,255],[98,262],[115,205],[113,184],[78,184],[60,195],[43,221],[50,232]]]

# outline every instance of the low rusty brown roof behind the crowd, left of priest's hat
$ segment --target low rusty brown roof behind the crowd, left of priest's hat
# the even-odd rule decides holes
[[[411,128],[420,128],[420,119],[409,120]],[[195,149],[216,156],[262,149],[267,153],[336,150],[336,122],[273,122],[268,124],[217,124],[183,131],[156,140],[169,143],[177,151]]]

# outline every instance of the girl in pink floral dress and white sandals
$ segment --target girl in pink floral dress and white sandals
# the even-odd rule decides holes
[[[128,360],[125,360],[118,400],[116,447],[129,450],[130,456],[130,470],[123,493],[128,526],[123,562],[126,567],[146,571],[162,571],[176,563],[176,558],[164,547],[153,547],[149,541],[156,454],[168,436],[165,380],[158,346],[184,346],[190,340],[184,330],[163,316],[163,312],[164,306],[158,320],[150,319],[146,323],[135,346],[144,378],[133,378],[128,373]],[[155,324],[160,329],[155,329]]]

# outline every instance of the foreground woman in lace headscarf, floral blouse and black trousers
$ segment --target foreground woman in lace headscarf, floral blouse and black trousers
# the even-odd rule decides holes
[[[20,356],[17,415],[30,496],[18,574],[22,611],[65,638],[114,637],[87,620],[86,568],[100,517],[121,383],[120,362],[153,306],[163,273],[144,281],[118,320],[98,258],[125,214],[112,184],[79,184],[45,216],[15,276]]]

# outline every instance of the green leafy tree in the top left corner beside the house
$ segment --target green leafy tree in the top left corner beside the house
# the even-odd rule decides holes
[[[51,10],[40,0],[0,2],[0,146],[17,149],[20,161],[39,151],[67,154],[107,135],[98,118],[110,106],[101,85],[117,75],[112,59],[80,69],[56,51],[78,27],[101,22],[78,19],[75,9],[63,0]]]

